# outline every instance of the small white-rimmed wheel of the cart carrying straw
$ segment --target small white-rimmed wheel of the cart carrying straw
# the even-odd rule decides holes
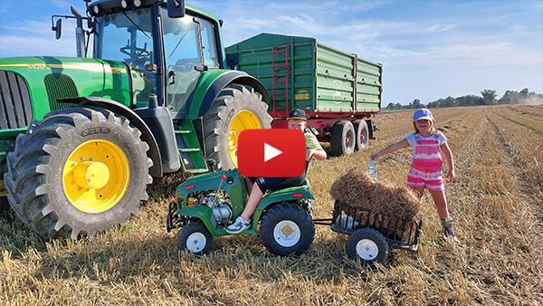
[[[359,228],[348,237],[348,253],[362,263],[383,263],[388,256],[388,243],[375,229]]]

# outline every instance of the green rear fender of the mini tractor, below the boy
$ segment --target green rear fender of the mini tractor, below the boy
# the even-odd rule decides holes
[[[294,186],[286,189],[274,191],[271,194],[262,197],[261,202],[256,207],[254,214],[252,215],[252,229],[257,230],[260,219],[262,219],[262,213],[279,203],[300,201],[302,199],[314,200],[315,197],[311,194],[310,186]]]

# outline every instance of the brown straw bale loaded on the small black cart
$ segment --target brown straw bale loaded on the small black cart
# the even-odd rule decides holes
[[[420,220],[423,214],[421,201],[411,189],[386,181],[375,181],[360,167],[352,168],[344,176],[338,177],[329,193],[339,202],[375,213],[398,215],[414,221]],[[374,215],[370,215],[370,224],[374,222]],[[402,235],[400,231],[397,234]],[[407,238],[405,234],[403,236]]]

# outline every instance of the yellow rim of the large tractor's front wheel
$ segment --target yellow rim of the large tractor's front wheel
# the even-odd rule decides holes
[[[90,214],[105,212],[119,203],[129,180],[129,158],[106,139],[81,143],[62,171],[62,186],[71,205]]]

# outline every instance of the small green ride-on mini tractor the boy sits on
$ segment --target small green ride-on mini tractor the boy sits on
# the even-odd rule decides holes
[[[237,169],[189,177],[177,187],[176,198],[169,205],[167,231],[181,227],[179,250],[208,253],[213,237],[229,235],[224,229],[242,214],[248,195],[245,179]],[[241,234],[257,234],[260,222],[262,244],[271,253],[305,253],[315,235],[311,199],[307,180],[302,186],[271,190],[252,215],[252,227]]]

